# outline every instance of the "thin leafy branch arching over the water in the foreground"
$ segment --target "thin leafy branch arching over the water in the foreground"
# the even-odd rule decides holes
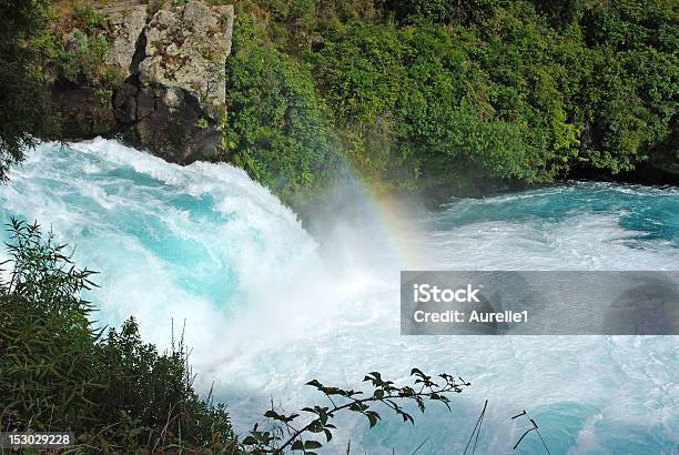
[[[272,410],[267,411],[264,416],[275,422],[274,428],[272,431],[260,431],[259,425],[255,424],[250,435],[243,439],[244,449],[255,454],[281,454],[285,449],[313,454],[312,451],[323,447],[323,443],[310,438],[312,437],[311,435],[323,433],[326,443],[328,443],[333,437],[333,431],[336,428],[332,419],[340,412],[351,411],[363,414],[368,419],[372,428],[382,417],[371,406],[382,404],[401,416],[404,422],[414,424],[413,416],[399,403],[404,401],[415,402],[419,411],[424,413],[426,408],[425,402],[435,401],[443,403],[450,411],[450,398],[447,395],[460,393],[470,385],[470,383],[465,382],[462,377],[455,378],[446,373],[439,374],[435,380],[418,368],[413,368],[411,376],[414,378],[412,386],[397,386],[393,381],[383,380],[382,375],[377,372],[369,373],[363,380],[371,383],[372,391],[369,394],[324,386],[317,380],[313,380],[306,385],[311,385],[322,392],[331,405],[315,405],[302,408],[301,412],[306,413],[312,418],[311,422],[306,422],[302,426],[296,425],[301,414],[280,414],[272,406]]]

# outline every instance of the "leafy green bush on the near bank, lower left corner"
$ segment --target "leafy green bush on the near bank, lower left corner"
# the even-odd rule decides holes
[[[0,285],[3,431],[68,428],[84,452],[235,447],[224,405],[193,391],[182,341],[158,353],[132,318],[102,336],[81,297],[92,272],[37,224],[12,220],[10,230]]]

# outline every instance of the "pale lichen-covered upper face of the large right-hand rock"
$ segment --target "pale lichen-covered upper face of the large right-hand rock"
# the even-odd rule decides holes
[[[233,7],[191,0],[158,11],[144,29],[145,58],[139,64],[142,85],[180,88],[210,117],[225,108],[224,68],[231,53]],[[169,104],[171,105],[171,103]]]

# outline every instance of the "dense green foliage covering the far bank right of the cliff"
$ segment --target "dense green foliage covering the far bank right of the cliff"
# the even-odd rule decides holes
[[[268,132],[283,104],[261,90],[280,92],[284,77],[311,64],[308,99],[332,119],[316,138],[336,136],[344,160],[332,164],[348,163],[383,190],[553,182],[646,161],[679,168],[677,2],[369,3],[237,3],[235,40],[249,44],[227,63],[242,81],[227,89],[236,89],[229,102],[237,115],[227,142],[242,148],[245,132]],[[276,178],[308,169],[288,156],[294,146],[280,145],[290,131],[278,132],[256,153],[234,155],[275,191]],[[273,146],[290,163],[282,171],[263,158]]]

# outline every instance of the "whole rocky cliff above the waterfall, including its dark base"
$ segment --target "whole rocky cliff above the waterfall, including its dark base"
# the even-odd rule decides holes
[[[53,85],[64,138],[116,135],[182,164],[219,159],[233,7],[190,0],[150,13],[139,3],[101,9],[112,90]]]

